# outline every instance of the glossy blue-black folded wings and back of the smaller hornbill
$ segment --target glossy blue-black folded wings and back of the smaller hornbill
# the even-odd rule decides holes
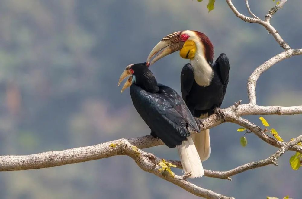
[[[159,85],[159,89],[159,93],[150,93],[133,84],[130,95],[153,134],[174,148],[190,136],[188,127],[198,132],[199,129],[181,96],[168,86]]]

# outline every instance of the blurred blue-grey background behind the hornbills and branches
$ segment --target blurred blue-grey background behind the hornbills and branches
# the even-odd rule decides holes
[[[247,14],[244,1],[234,1]],[[169,33],[198,30],[214,44],[215,59],[230,59],[230,83],[222,107],[247,102],[246,81],[252,71],[282,51],[258,24],[233,14],[225,1],[118,0],[0,1],[0,154],[26,155],[95,145],[150,133],[132,105],[120,94],[120,74],[128,64],[144,62]],[[272,1],[251,1],[264,18]],[[288,2],[271,23],[292,48],[302,48],[302,4]],[[174,53],[151,67],[158,82],[180,92],[180,72],[188,60]],[[276,64],[257,83],[259,105],[300,105],[302,56]],[[245,118],[261,125],[259,116]],[[265,116],[289,141],[301,134],[302,116]],[[204,168],[225,171],[266,158],[274,148],[254,134],[240,145],[239,126],[211,129],[212,154]],[[145,149],[178,160],[176,149]],[[236,198],[300,198],[301,169],[294,171],[284,154],[279,166],[233,176],[233,181],[203,177],[196,185]],[[179,169],[175,173],[181,174]],[[1,172],[0,198],[197,198],[153,174],[129,157],[111,157],[39,170]]]

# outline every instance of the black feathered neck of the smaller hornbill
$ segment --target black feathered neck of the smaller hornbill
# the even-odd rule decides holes
[[[136,77],[135,84],[147,92],[159,92],[158,83],[150,70],[143,71],[139,77]]]

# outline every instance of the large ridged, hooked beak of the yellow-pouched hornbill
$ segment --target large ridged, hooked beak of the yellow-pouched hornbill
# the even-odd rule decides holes
[[[168,54],[182,49],[185,42],[183,42],[180,38],[180,33],[181,32],[174,32],[165,36],[150,52],[147,62],[150,62],[151,58],[153,58],[157,53],[158,54],[150,62],[150,65],[154,64],[157,60],[167,56]]]

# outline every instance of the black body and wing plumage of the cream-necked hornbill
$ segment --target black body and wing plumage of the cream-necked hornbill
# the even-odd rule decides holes
[[[200,117],[201,114],[205,113],[213,114],[215,108],[220,108],[226,93],[229,82],[229,59],[226,54],[222,53],[214,64],[209,64],[214,72],[209,86],[200,86],[196,83],[191,64],[186,64],[182,68],[182,98],[194,117]]]

